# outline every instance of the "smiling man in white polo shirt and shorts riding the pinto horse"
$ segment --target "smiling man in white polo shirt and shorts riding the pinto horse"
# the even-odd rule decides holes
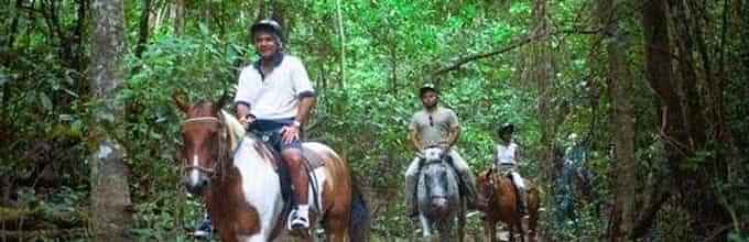
[[[307,172],[303,165],[300,130],[315,103],[315,91],[300,58],[283,53],[281,25],[262,20],[250,28],[260,58],[239,75],[236,116],[246,128],[272,133],[268,142],[281,153],[289,168],[296,208],[289,229],[310,228]]]

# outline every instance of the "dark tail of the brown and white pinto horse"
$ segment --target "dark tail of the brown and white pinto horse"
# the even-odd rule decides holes
[[[349,222],[348,235],[352,242],[366,242],[369,241],[371,222],[369,207],[367,207],[358,183],[354,179],[351,182],[351,221]]]

